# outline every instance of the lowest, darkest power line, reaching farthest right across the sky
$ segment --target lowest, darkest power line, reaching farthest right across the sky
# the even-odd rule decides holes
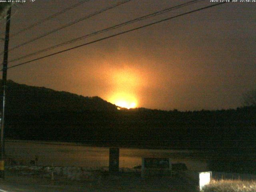
[[[224,4],[224,3],[226,3],[226,2],[221,2],[221,3],[213,4],[213,5],[206,6],[206,7],[203,7],[203,8],[199,8],[199,9],[196,9],[196,10],[192,10],[192,11],[189,11],[189,12],[186,12],[186,13],[182,13],[182,14],[179,14],[179,15],[176,15],[176,16],[172,16],[172,17],[169,17],[169,18],[166,18],[166,19],[162,19],[162,20],[160,20],[160,21],[152,22],[152,23],[150,23],[150,24],[146,24],[146,25],[143,25],[143,26],[140,26],[140,27],[137,27],[137,28],[133,28],[133,29],[130,29],[130,30],[126,30],[126,31],[124,31],[124,32],[120,32],[120,33],[117,33],[117,34],[114,34],[114,35],[111,35],[111,36],[107,36],[107,37],[104,37],[104,38],[100,38],[100,39],[98,39],[98,40],[94,40],[94,41],[91,41],[91,42],[88,42],[88,43],[85,43],[85,44],[82,44],[82,45],[78,45],[78,46],[75,46],[75,47],[72,47],[72,48],[68,48],[68,49],[65,49],[65,50],[62,50],[62,51],[59,51],[59,52],[55,52],[55,53],[52,53],[52,54],[49,54],[49,55],[46,55],[46,56],[43,56],[43,57],[40,57],[40,58],[36,58],[36,59],[30,60],[30,61],[27,61],[27,62],[23,62],[23,63],[20,63],[20,64],[16,64],[16,65],[14,65],[14,66],[8,67],[8,69],[9,69],[9,68],[14,68],[14,67],[17,67],[17,66],[21,66],[21,65],[24,65],[24,64],[27,64],[27,63],[36,61],[36,60],[43,59],[43,58],[47,58],[47,57],[50,57],[50,56],[53,56],[53,55],[56,55],[56,54],[60,54],[60,53],[66,52],[66,51],[70,51],[70,50],[73,50],[73,49],[76,49],[76,48],[79,48],[79,47],[82,47],[82,46],[86,46],[86,45],[89,45],[89,44],[92,44],[92,43],[95,43],[95,42],[98,42],[98,41],[106,40],[106,39],[108,39],[108,38],[112,38],[112,37],[115,37],[115,36],[118,36],[118,35],[121,35],[121,34],[125,34],[125,33],[128,33],[128,32],[132,32],[132,31],[135,31],[135,30],[144,28],[144,27],[152,26],[152,25],[154,25],[154,24],[157,24],[157,23],[160,23],[160,22],[164,22],[164,21],[167,21],[167,20],[171,20],[171,19],[177,18],[177,17],[179,17],[179,16],[183,16],[183,15],[190,14],[190,13],[193,13],[193,12],[198,12],[198,11],[200,11],[200,10],[204,10],[204,9],[207,9],[207,8],[211,8],[211,7],[214,7],[214,6],[218,6],[218,5]],[[2,70],[1,70],[1,71],[2,71]]]

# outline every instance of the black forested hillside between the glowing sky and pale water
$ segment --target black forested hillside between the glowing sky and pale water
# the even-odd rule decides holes
[[[150,148],[256,147],[256,108],[179,112],[117,110],[84,97],[8,81],[6,136]]]

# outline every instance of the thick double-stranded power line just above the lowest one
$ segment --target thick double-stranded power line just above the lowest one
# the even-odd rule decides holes
[[[157,12],[154,12],[152,14],[148,14],[148,15],[145,15],[145,16],[142,16],[142,17],[139,17],[139,18],[136,18],[136,19],[133,19],[133,20],[129,20],[127,22],[123,22],[121,24],[117,24],[115,26],[112,26],[112,27],[109,27],[109,28],[105,28],[103,30],[99,30],[99,31],[96,31],[96,32],[93,32],[93,33],[90,33],[90,34],[86,34],[84,36],[81,36],[81,37],[78,37],[78,38],[74,38],[72,40],[69,40],[67,42],[63,42],[61,44],[57,44],[57,45],[54,45],[54,46],[51,46],[51,47],[48,47],[48,48],[45,48],[43,50],[39,50],[39,51],[36,51],[36,52],[33,52],[33,53],[30,53],[28,55],[25,55],[25,56],[22,56],[20,58],[16,58],[16,59],[13,59],[13,60],[10,60],[9,62],[14,62],[14,61],[18,61],[18,60],[21,60],[21,59],[24,59],[24,58],[27,58],[27,57],[30,57],[30,56],[33,56],[33,55],[36,55],[36,54],[40,54],[40,53],[43,53],[43,52],[46,52],[48,50],[52,50],[52,49],[55,49],[55,48],[58,48],[60,46],[64,46],[66,44],[70,44],[70,43],[73,43],[73,42],[76,42],[78,40],[83,40],[85,38],[88,38],[88,37],[91,37],[91,36],[94,36],[94,35],[97,35],[97,34],[101,34],[103,32],[107,32],[107,31],[110,31],[110,30],[114,30],[116,28],[120,28],[122,26],[125,26],[125,25],[128,25],[128,24],[132,24],[134,22],[138,22],[138,21],[142,21],[142,20],[145,20],[145,19],[148,19],[148,18],[151,18],[151,17],[154,17],[154,16],[158,16],[160,14],[164,14],[166,12],[170,12],[172,10],[175,10],[175,9],[178,9],[178,8],[182,8],[184,6],[188,6],[188,5],[191,5],[191,4],[194,4],[194,3],[198,3],[198,2],[201,2],[201,1],[205,1],[205,0],[192,0],[190,2],[186,2],[184,4],[180,4],[178,6],[173,6],[173,7],[170,7],[170,8],[166,8],[164,10],[161,10],[161,11],[157,11]]]

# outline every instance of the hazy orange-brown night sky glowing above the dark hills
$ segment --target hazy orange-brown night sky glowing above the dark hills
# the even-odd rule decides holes
[[[9,48],[121,2],[90,0],[10,38]],[[78,0],[35,0],[12,8],[10,34]],[[9,60],[188,0],[132,0],[9,52]],[[8,66],[208,6],[210,0],[111,30]],[[242,105],[256,88],[256,3],[226,3],[8,70],[8,79],[114,104],[173,110]],[[1,38],[5,21],[0,22]],[[4,43],[0,43],[3,51]],[[1,58],[2,59],[2,56]]]

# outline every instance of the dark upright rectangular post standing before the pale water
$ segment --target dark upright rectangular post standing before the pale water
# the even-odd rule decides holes
[[[109,172],[119,172],[119,148],[109,149]]]

